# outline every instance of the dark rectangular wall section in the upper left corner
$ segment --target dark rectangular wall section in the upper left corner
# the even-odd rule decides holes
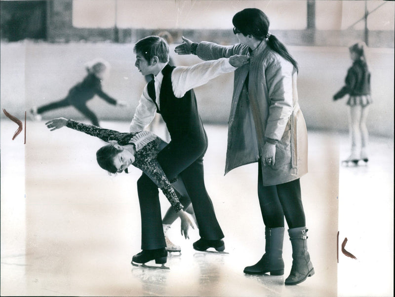
[[[46,2],[0,1],[1,39],[46,39]]]

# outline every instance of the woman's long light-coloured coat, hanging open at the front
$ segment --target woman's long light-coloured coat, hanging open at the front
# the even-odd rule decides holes
[[[250,63],[235,71],[225,174],[260,159],[264,186],[300,178],[307,173],[307,130],[298,104],[295,68],[266,42],[251,52],[244,44],[202,41],[197,46],[197,56],[203,60],[236,54],[249,54]],[[266,142],[276,144],[274,166],[263,166]]]

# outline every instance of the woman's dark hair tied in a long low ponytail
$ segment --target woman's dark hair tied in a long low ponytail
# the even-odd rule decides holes
[[[268,16],[262,10],[258,8],[245,8],[235,14],[232,23],[244,36],[251,35],[258,40],[267,38],[269,47],[285,60],[292,63],[296,71],[298,71],[298,63],[289,54],[285,45],[272,34],[267,37],[270,22]]]

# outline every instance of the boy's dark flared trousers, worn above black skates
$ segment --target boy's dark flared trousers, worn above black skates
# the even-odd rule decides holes
[[[204,185],[203,156],[206,142],[197,146],[171,141],[158,153],[158,161],[167,178],[180,175],[195,211],[201,238],[224,237],[215,216],[213,204]],[[141,212],[141,249],[154,250],[166,246],[163,235],[158,187],[144,173],[137,181]],[[184,205],[187,207],[188,205]]]

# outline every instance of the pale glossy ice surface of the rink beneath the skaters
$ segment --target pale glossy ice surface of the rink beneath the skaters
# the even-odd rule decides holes
[[[127,122],[102,126],[128,130]],[[224,177],[226,126],[206,125],[204,159],[206,188],[225,233],[226,254],[195,251],[198,230],[185,240],[178,220],[169,237],[182,253],[168,257],[169,269],[130,264],[140,252],[138,169],[110,177],[95,160],[104,143],[83,133],[68,128],[50,132],[44,122],[28,121],[24,145],[23,133],[11,140],[16,128],[1,120],[1,296],[393,294],[393,139],[372,136],[367,166],[339,167],[348,154],[348,136],[309,131],[309,173],[301,186],[316,274],[297,286],[284,286],[292,264],[287,235],[284,276],[242,272],[264,252],[264,225],[257,164]],[[169,203],[163,195],[160,201],[163,215]],[[345,237],[356,260],[341,252]]]

